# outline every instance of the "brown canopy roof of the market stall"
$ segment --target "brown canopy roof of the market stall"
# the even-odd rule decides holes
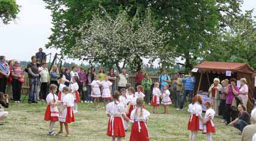
[[[255,73],[254,70],[247,63],[231,63],[231,62],[208,62],[205,61],[200,65],[194,66],[199,70],[204,71],[216,71],[224,72],[226,70],[231,70],[232,72],[241,72],[241,73]]]

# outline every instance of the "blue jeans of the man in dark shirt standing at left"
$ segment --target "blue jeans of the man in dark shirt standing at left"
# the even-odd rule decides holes
[[[28,102],[35,102],[37,101],[37,84],[38,78],[29,78],[29,96]]]

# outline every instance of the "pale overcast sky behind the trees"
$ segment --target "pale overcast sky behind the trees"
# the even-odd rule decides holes
[[[0,24],[0,55],[6,56],[7,60],[29,61],[40,47],[47,54],[58,53],[55,49],[44,47],[52,33],[50,30],[52,17],[50,11],[45,9],[43,0],[16,1],[22,6],[16,22],[8,25]],[[255,7],[256,0],[244,0],[242,10],[251,10]],[[67,62],[73,62],[73,59],[67,59]],[[75,62],[78,63],[77,60]]]

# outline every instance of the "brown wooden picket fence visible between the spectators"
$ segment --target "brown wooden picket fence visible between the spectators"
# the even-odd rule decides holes
[[[137,73],[135,72],[131,72],[129,73],[129,77],[128,77],[128,82],[131,84],[131,87],[135,87],[135,76],[137,75]],[[158,82],[158,78],[161,75],[161,73],[149,73],[150,78],[152,79],[152,82]],[[174,75],[169,75],[171,79],[174,78]],[[118,75],[117,75],[118,77]],[[181,75],[179,77],[182,77]],[[116,90],[118,87],[118,81],[116,81]],[[22,84],[22,93],[28,93],[29,91],[29,79],[28,79],[28,74],[25,73],[25,82]]]

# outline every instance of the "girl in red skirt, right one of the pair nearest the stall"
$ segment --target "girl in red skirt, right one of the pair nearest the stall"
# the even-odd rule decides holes
[[[203,134],[206,134],[207,141],[212,141],[212,136],[210,136],[210,133],[215,133],[215,127],[213,124],[213,118],[215,115],[215,111],[212,109],[212,105],[210,102],[206,102],[206,114],[204,115],[204,121],[203,121]]]

